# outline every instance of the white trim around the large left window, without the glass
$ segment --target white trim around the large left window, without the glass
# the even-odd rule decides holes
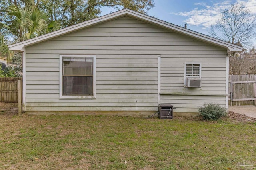
[[[70,96],[62,95],[62,57],[93,57],[93,95]],[[60,98],[80,98],[80,99],[95,99],[96,98],[96,55],[60,55]]]

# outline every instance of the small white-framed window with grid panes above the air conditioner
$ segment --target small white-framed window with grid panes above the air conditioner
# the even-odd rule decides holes
[[[185,63],[184,84],[188,77],[201,78],[201,63]]]

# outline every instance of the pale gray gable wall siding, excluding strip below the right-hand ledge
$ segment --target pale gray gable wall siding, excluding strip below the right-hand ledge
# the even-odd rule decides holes
[[[180,86],[184,82],[184,61],[200,61],[206,83],[201,90],[216,92],[225,88],[224,52],[219,47],[132,18],[108,21],[26,48],[26,109],[156,111],[159,55],[164,91],[184,90]],[[96,55],[95,100],[59,99],[60,54]],[[161,102],[172,100],[161,97]]]

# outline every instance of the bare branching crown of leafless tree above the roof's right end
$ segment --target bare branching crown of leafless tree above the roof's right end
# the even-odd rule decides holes
[[[232,4],[226,8],[209,33],[218,39],[247,46],[256,35],[256,16],[243,4]]]

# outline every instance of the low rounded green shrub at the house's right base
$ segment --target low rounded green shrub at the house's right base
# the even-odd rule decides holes
[[[205,103],[204,106],[199,106],[198,111],[203,119],[206,120],[218,120],[220,117],[227,115],[225,108],[213,103]]]

